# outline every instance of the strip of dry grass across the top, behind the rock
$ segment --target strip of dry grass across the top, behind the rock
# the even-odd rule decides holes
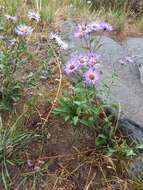
[[[6,6],[4,13],[19,14],[20,17],[27,14],[29,9],[40,12],[43,23],[54,24],[57,28],[64,20],[74,19],[78,21],[107,20],[113,24],[115,31],[130,35],[131,26],[136,34],[142,33],[142,7],[141,1],[93,1],[91,4],[84,0],[0,0],[1,5]],[[18,8],[17,8],[18,7]]]

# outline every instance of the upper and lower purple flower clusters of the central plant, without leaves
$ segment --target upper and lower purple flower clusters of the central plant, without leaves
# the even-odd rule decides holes
[[[68,77],[80,76],[85,84],[95,86],[100,79],[99,71],[99,55],[96,54],[95,48],[92,46],[94,36],[92,34],[100,31],[111,32],[112,26],[107,22],[91,22],[89,24],[79,24],[75,32],[75,37],[85,41],[85,47],[88,52],[76,54],[68,60],[64,71]],[[102,34],[102,33],[101,33]],[[95,42],[94,42],[95,43]]]

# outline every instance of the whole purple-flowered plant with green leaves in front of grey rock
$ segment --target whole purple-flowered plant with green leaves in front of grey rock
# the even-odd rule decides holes
[[[86,126],[92,130],[97,148],[103,148],[108,155],[134,155],[134,147],[128,146],[126,140],[120,138],[117,127],[116,106],[109,107],[101,100],[101,93],[108,84],[100,85],[100,56],[97,49],[104,32],[111,32],[112,26],[106,22],[78,25],[75,37],[82,43],[82,51],[73,54],[64,65],[64,73],[71,82],[71,90],[59,99],[54,113],[64,116],[74,128]],[[95,38],[96,35],[96,38]],[[96,40],[97,39],[97,40]],[[131,60],[128,58],[128,61]],[[116,74],[112,75],[112,84]],[[98,88],[105,87],[103,89]],[[114,111],[113,111],[114,110]],[[120,148],[119,148],[120,147]]]

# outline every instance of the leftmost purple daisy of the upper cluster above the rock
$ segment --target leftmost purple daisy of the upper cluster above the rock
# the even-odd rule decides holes
[[[92,32],[92,28],[87,24],[79,24],[78,30],[75,32],[75,37],[82,38]]]

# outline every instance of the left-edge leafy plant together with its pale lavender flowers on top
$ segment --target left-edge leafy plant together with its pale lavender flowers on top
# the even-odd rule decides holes
[[[34,11],[29,11],[27,17],[36,23],[40,21],[40,15]],[[5,18],[5,31],[10,32],[0,35],[0,43],[4,42],[0,50],[0,111],[4,112],[13,110],[30,84],[28,76],[17,78],[17,71],[21,72],[23,64],[30,60],[25,38],[33,32],[32,26],[17,24],[20,23],[18,16],[5,15]],[[15,38],[15,34],[21,38]]]

